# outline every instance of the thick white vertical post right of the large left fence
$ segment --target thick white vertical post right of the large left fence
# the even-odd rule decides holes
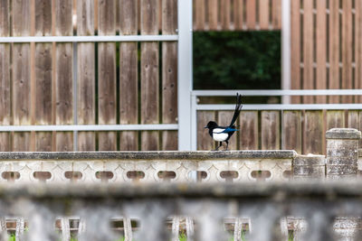
[[[191,150],[192,0],[178,0],[178,151]]]

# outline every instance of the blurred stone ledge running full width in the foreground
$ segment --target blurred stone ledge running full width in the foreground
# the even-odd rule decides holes
[[[361,199],[360,181],[144,184],[1,184],[0,199]]]

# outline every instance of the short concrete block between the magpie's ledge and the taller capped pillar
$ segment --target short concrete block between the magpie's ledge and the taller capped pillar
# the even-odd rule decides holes
[[[294,180],[324,179],[326,157],[324,155],[298,155],[293,159]]]

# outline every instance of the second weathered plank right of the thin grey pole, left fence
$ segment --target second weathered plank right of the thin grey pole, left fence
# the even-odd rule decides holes
[[[116,34],[116,1],[100,1],[99,35]],[[98,124],[117,124],[116,43],[98,44]],[[117,132],[98,134],[100,151],[117,151]]]

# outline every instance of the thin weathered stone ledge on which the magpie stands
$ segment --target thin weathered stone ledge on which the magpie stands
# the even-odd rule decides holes
[[[0,153],[0,160],[228,160],[291,159],[295,151]]]

